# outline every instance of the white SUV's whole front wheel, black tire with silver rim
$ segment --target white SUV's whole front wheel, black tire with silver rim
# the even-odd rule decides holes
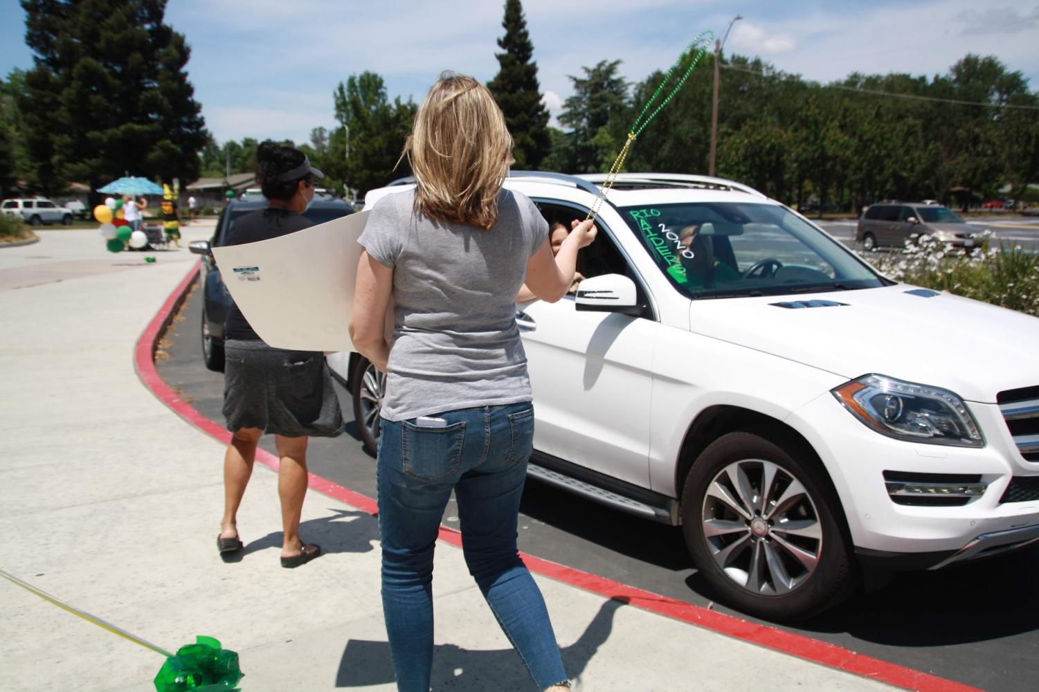
[[[836,493],[815,453],[781,434],[712,443],[686,477],[682,520],[699,574],[747,614],[803,619],[858,586]]]

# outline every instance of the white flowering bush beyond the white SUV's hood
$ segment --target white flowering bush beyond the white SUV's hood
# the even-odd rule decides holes
[[[863,257],[888,278],[949,291],[1039,317],[1039,254],[993,246],[990,231],[979,247],[954,248],[931,235],[906,242],[902,250]]]

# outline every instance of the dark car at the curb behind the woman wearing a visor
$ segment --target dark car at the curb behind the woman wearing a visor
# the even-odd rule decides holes
[[[262,197],[247,201],[234,199],[220,214],[212,240],[198,240],[191,243],[191,251],[203,256],[202,352],[206,367],[210,370],[223,370],[223,320],[228,316],[232,302],[231,294],[228,292],[228,287],[223,285],[210,247],[220,247],[223,244],[236,219],[266,206],[267,203]],[[315,197],[307,211],[303,212],[303,216],[317,225],[352,214],[353,211],[353,207],[344,199]]]

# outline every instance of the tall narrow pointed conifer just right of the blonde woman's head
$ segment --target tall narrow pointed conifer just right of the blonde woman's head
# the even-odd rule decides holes
[[[537,63],[531,60],[534,46],[527,33],[527,20],[520,0],[505,0],[505,35],[498,39],[504,53],[496,53],[501,68],[487,84],[505,114],[515,141],[512,156],[518,169],[536,170],[552,148],[549,111],[541,104]]]

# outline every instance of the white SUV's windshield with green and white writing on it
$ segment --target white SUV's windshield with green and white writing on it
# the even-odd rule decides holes
[[[690,298],[888,283],[835,240],[776,205],[698,203],[619,211],[661,272]]]

